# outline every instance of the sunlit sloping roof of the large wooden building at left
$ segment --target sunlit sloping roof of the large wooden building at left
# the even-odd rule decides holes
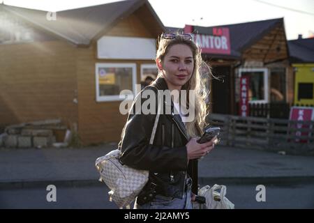
[[[147,4],[158,24],[164,29],[154,9],[147,0],[128,0],[107,3],[98,6],[62,10],[57,12],[57,20],[47,20],[47,12],[0,4],[3,8],[24,20],[40,26],[57,36],[61,36],[76,45],[89,45],[90,41],[114,22],[133,13]]]

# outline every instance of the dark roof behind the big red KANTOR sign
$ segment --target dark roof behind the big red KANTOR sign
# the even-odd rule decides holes
[[[231,43],[231,54],[230,57],[241,56],[241,52],[247,47],[256,43],[262,36],[268,33],[271,29],[274,29],[278,24],[283,24],[283,18],[274,20],[262,20],[256,22],[244,22],[239,24],[227,24],[221,26],[193,26],[194,31],[202,34],[211,33],[212,28],[221,27],[229,28],[230,43]],[[182,31],[181,28],[166,27],[167,31]],[[221,57],[221,56],[220,56]]]

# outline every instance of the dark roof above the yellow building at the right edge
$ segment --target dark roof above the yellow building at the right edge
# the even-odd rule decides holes
[[[292,63],[314,62],[314,38],[289,40],[287,43]]]

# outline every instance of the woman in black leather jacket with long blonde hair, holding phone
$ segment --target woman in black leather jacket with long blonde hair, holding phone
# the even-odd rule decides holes
[[[144,91],[186,91],[195,95],[193,102],[187,97],[186,105],[179,98],[171,103],[162,100],[163,106],[171,104],[171,112],[161,112],[158,119],[154,144],[149,144],[155,114],[135,111],[136,102],[147,100],[139,95],[135,98],[120,142],[121,162],[135,169],[149,170],[149,182],[138,195],[135,208],[192,208],[191,200],[197,194],[197,159],[214,148],[214,138],[204,144],[197,143],[205,125],[206,92],[201,79],[202,58],[200,49],[189,34],[164,33],[159,40],[156,55],[158,77]],[[158,97],[156,96],[158,99]],[[159,105],[160,106],[160,105]],[[177,111],[188,107],[195,117]],[[158,107],[158,105],[156,105]],[[185,122],[186,121],[186,122]],[[193,183],[193,184],[192,184]]]

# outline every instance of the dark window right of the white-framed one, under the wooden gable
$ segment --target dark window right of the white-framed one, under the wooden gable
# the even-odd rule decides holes
[[[271,68],[271,102],[285,101],[285,68]]]

